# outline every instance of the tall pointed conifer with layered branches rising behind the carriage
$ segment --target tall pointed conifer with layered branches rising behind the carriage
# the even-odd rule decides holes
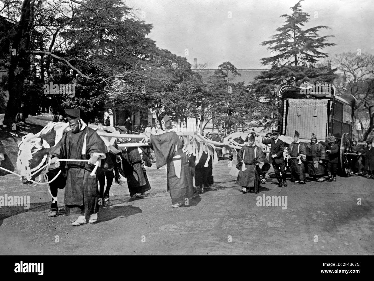
[[[278,33],[272,36],[272,40],[261,43],[275,53],[261,59],[262,65],[271,67],[256,77],[259,80],[257,90],[263,94],[274,94],[277,86],[286,82],[299,86],[306,81],[312,84],[328,83],[335,78],[335,70],[331,70],[329,65],[316,66],[320,59],[328,57],[321,50],[335,45],[327,43],[328,38],[333,36],[318,35],[319,31],[328,29],[324,25],[303,29],[309,21],[309,14],[301,9],[301,1],[290,8],[291,15],[281,15],[286,20],[285,24],[277,28]]]

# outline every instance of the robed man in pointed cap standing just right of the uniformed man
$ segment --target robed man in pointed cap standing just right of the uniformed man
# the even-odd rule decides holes
[[[295,130],[294,141],[288,147],[288,158],[291,160],[291,182],[305,184],[305,167],[307,150],[299,140],[299,132]],[[300,163],[300,164],[299,164]]]

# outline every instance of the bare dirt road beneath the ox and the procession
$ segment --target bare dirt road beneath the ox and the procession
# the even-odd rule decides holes
[[[152,189],[131,200],[127,184],[114,185],[110,204],[91,225],[71,226],[77,215],[47,217],[45,187],[0,178],[0,196],[30,196],[30,209],[0,209],[1,254],[364,254],[374,253],[374,180],[289,183],[268,179],[259,194],[241,194],[227,161],[214,166],[215,184],[170,208],[165,169],[147,169]],[[125,179],[123,179],[125,180]],[[285,196],[287,208],[257,206],[257,196]],[[361,198],[361,205],[358,200]],[[58,195],[63,206],[63,190]],[[285,201],[283,201],[285,203]],[[318,241],[318,242],[317,242]]]

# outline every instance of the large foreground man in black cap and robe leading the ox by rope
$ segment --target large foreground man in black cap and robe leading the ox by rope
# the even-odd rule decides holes
[[[80,118],[77,108],[65,109],[70,131],[66,132],[59,143],[52,148],[51,162],[56,159],[88,159],[89,162],[66,161],[61,163],[61,170],[67,174],[64,203],[68,207],[79,207],[81,215],[71,225],[77,226],[94,223],[99,211],[99,193],[96,175],[91,176],[93,164],[105,158],[107,148],[103,140]]]

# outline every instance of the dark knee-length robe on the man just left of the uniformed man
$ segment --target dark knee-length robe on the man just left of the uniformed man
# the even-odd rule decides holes
[[[242,160],[244,160],[244,163],[241,162]],[[239,175],[236,184],[247,188],[250,187],[250,189],[254,189],[254,191],[257,192],[260,188],[260,175],[262,173],[260,167],[256,165],[257,163],[263,165],[268,163],[262,149],[257,145],[243,146],[237,153],[236,168],[239,169]],[[244,170],[243,166],[245,167]]]

